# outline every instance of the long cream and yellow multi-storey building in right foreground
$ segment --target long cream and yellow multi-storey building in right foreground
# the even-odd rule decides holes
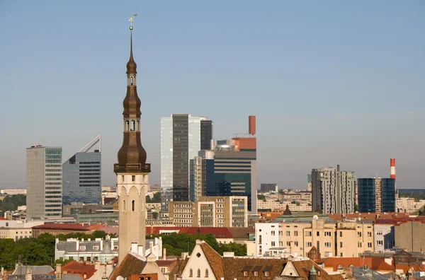
[[[306,257],[312,247],[316,247],[322,257],[359,257],[367,250],[374,250],[373,223],[335,222],[318,217],[310,221],[293,218],[277,223],[256,223],[255,243],[257,257]]]

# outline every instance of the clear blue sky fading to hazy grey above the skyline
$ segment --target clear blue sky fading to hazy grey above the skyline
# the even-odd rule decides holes
[[[257,119],[258,184],[304,189],[312,168],[425,188],[425,1],[2,1],[0,188],[26,187],[26,148],[62,160],[102,135],[115,185],[134,21],[142,144],[159,184],[160,118],[214,138]]]

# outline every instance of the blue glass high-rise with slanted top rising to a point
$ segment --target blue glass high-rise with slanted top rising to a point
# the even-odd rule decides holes
[[[98,144],[97,149],[93,149]],[[81,148],[62,165],[63,204],[101,203],[101,135]]]

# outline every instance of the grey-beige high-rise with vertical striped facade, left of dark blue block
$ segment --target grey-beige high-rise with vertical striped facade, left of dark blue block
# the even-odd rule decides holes
[[[322,214],[353,213],[356,173],[337,168],[312,170],[312,211]]]

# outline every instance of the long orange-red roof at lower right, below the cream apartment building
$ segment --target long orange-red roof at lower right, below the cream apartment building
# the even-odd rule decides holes
[[[369,269],[373,269],[381,272],[394,272],[394,267],[391,264],[387,264],[385,259],[379,257],[328,257],[324,259],[324,267],[333,267],[334,272],[338,271],[338,266],[341,267],[363,267],[367,265]]]

